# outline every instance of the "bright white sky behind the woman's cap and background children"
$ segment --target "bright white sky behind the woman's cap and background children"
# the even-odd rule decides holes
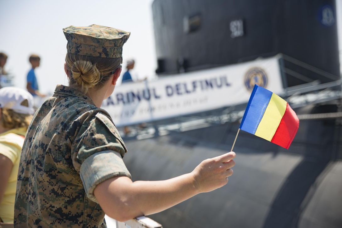
[[[67,85],[63,65],[67,41],[62,29],[98,24],[130,31],[123,46],[123,60],[135,59],[138,78],[155,78],[153,0],[0,0],[0,52],[9,58],[6,71],[15,76],[17,87],[26,87],[28,58],[41,57],[36,76],[40,91],[52,94],[57,84]],[[337,2],[337,19],[342,53],[342,0]],[[340,54],[340,59],[342,55]],[[125,65],[123,65],[123,68]],[[342,67],[342,66],[341,66]]]

